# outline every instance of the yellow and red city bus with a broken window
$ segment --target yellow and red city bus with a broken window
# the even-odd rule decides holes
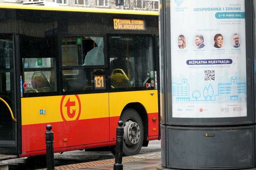
[[[109,147],[159,139],[158,13],[0,6],[0,154]],[[10,155],[10,156],[8,156]]]

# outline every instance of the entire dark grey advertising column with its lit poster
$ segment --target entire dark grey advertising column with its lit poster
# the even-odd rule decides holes
[[[158,169],[255,167],[252,0],[160,0]]]

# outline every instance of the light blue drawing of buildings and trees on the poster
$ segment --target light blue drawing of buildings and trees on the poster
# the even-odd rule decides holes
[[[218,92],[214,92],[213,85],[197,89],[193,92],[189,91],[189,82],[187,79],[182,79],[181,83],[172,83],[172,96],[176,102],[190,101],[218,101],[223,102],[238,101],[246,98],[246,82],[237,82],[237,77],[231,77],[228,83],[218,83]]]

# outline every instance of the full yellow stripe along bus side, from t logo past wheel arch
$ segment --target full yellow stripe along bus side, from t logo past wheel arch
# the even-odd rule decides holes
[[[22,125],[117,117],[133,102],[141,103],[147,113],[158,112],[157,90],[25,97],[21,99]]]

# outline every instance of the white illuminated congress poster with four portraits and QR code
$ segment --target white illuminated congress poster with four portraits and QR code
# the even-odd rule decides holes
[[[171,0],[172,117],[246,117],[244,0]]]

